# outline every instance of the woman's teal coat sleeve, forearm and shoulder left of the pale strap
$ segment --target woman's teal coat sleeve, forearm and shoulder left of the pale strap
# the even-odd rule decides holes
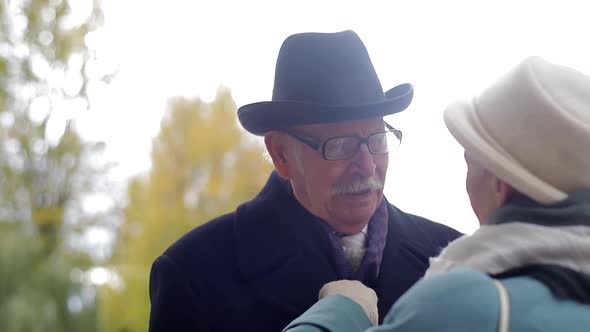
[[[393,306],[383,324],[371,327],[362,308],[340,295],[325,297],[284,331],[496,332],[499,300],[491,279],[458,269],[423,279]]]

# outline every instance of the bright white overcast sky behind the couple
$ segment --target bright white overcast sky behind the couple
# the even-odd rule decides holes
[[[172,96],[211,100],[231,88],[238,105],[269,100],[282,41],[305,31],[356,31],[385,90],[414,84],[412,105],[388,121],[404,132],[386,195],[407,212],[473,232],[462,150],[442,120],[528,55],[590,73],[585,1],[103,0],[92,39],[119,68],[79,127],[104,140],[113,178],[149,169],[151,139]]]

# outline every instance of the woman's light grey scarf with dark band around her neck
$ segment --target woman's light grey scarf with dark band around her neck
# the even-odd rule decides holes
[[[552,205],[515,197],[473,235],[431,258],[426,277],[459,266],[499,274],[533,264],[590,275],[590,189]]]

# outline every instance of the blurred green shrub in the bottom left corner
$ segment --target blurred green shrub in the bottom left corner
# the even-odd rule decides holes
[[[39,237],[0,223],[0,330],[96,331],[95,288],[75,257],[49,254]]]

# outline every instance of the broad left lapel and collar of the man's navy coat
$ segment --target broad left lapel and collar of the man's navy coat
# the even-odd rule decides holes
[[[236,211],[235,241],[243,281],[290,319],[337,278],[328,235],[274,172],[260,194]]]

